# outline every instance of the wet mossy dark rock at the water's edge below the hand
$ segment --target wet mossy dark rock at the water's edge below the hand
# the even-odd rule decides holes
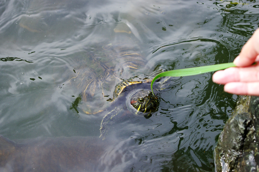
[[[259,171],[259,97],[240,96],[215,148],[217,171]]]

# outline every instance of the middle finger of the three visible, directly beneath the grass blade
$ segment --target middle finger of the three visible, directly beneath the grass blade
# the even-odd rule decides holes
[[[217,71],[213,74],[212,81],[218,84],[259,81],[259,65],[257,64],[250,67],[231,67],[224,71]]]

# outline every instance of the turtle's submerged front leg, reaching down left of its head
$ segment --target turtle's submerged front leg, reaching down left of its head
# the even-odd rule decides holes
[[[119,114],[122,111],[122,107],[115,107],[111,112],[107,113],[102,120],[101,127],[100,127],[100,137],[103,137],[103,140],[105,139],[105,136],[107,134],[108,128],[114,124],[114,120],[117,114]]]

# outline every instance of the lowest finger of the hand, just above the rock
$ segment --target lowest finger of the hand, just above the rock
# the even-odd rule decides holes
[[[229,82],[224,91],[237,95],[259,96],[259,82]]]

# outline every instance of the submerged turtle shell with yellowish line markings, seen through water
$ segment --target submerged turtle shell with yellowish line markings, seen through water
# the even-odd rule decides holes
[[[80,63],[74,69],[75,76],[69,83],[81,92],[83,111],[95,114],[105,110],[111,103],[110,100],[116,98],[113,98],[114,92],[122,91],[123,87],[115,91],[118,89],[116,85],[125,80],[133,84],[139,83],[135,82],[139,80],[135,76],[143,76],[146,60],[140,54],[139,46],[127,40],[126,43],[91,47]]]

